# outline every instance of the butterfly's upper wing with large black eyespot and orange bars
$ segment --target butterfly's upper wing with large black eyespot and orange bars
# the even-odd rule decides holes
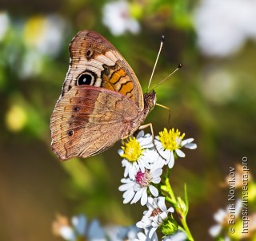
[[[70,68],[61,97],[75,85],[110,89],[134,101],[139,111],[144,108],[142,88],[134,71],[106,38],[93,31],[80,31],[70,43]]]

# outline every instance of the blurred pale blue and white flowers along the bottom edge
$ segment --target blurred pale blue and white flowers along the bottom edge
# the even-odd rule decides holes
[[[102,226],[97,219],[88,222],[85,215],[75,215],[71,220],[66,216],[57,215],[53,222],[54,235],[62,237],[67,241],[89,240],[89,241],[158,241],[158,236],[154,233],[149,238],[149,229],[144,232],[134,225],[128,227]],[[164,241],[186,240],[186,235],[182,231],[174,235],[166,236]]]

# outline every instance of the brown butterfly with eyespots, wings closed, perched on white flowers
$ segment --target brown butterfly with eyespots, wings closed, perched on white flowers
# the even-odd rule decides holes
[[[83,30],[70,42],[70,65],[50,118],[60,160],[97,155],[132,135],[154,108],[133,69],[102,35]]]

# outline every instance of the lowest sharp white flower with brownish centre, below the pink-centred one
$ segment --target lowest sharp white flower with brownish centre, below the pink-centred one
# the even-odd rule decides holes
[[[158,227],[168,218],[168,213],[174,212],[174,208],[166,208],[163,196],[154,199],[149,197],[146,206],[149,210],[143,212],[142,220],[136,223],[136,226],[144,229],[149,228],[149,238],[151,239]]]

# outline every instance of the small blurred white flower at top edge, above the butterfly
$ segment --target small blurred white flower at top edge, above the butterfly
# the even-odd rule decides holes
[[[122,35],[126,30],[137,34],[140,30],[138,22],[130,16],[129,3],[126,1],[107,3],[103,7],[102,22],[114,35]]]

